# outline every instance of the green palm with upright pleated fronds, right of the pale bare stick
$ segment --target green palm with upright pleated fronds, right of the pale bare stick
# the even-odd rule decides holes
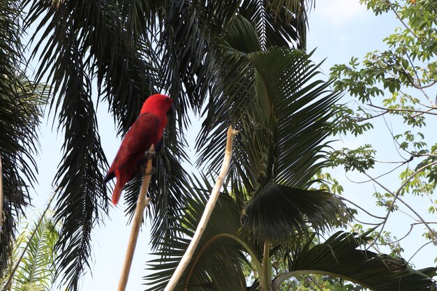
[[[309,61],[311,55],[282,47],[262,50],[255,28],[242,16],[232,20],[221,47],[229,58],[222,67],[228,91],[216,102],[226,110],[209,121],[218,130],[228,119],[239,124],[232,192],[221,195],[176,290],[277,291],[300,274],[344,278],[371,290],[429,290],[436,268],[415,271],[406,261],[357,249],[371,239],[368,233],[336,232],[323,243],[314,240],[351,217],[339,197],[309,190],[311,178],[324,167],[327,121],[338,98],[329,84],[315,80],[318,66]],[[232,95],[242,84],[244,102]],[[207,140],[216,135],[209,134]],[[223,145],[204,147],[210,153],[206,161],[214,165]],[[212,186],[207,178],[191,184],[188,211],[178,228],[184,235],[158,247],[148,290],[163,290],[200,221]],[[279,252],[285,254],[287,271],[272,276],[272,255]],[[246,264],[256,278],[249,286]]]

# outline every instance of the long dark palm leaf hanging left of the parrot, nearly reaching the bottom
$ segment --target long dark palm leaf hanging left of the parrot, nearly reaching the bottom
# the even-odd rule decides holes
[[[34,7],[32,16],[40,15],[44,5],[47,3]],[[63,274],[62,279],[68,288],[77,290],[80,276],[89,267],[91,230],[108,210],[106,188],[102,185],[103,168],[108,164],[97,133],[91,80],[84,71],[87,47],[81,47],[74,29],[65,28],[75,23],[66,17],[67,7],[59,6],[57,9],[50,4],[49,7],[48,12],[51,13],[43,19],[43,24],[50,17],[58,22],[49,22],[43,32],[47,34],[51,29],[55,30],[52,41],[47,42],[43,50],[43,61],[46,62],[38,73],[49,69],[52,74],[52,88],[58,98],[52,99],[51,107],[59,114],[59,128],[65,132],[64,153],[54,177],[57,186],[55,217],[62,222],[61,237],[57,243],[58,276]],[[53,55],[57,56],[57,60],[52,64]]]

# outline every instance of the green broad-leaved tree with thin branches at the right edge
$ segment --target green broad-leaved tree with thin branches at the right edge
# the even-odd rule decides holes
[[[392,137],[395,150],[392,156],[382,156],[379,149],[366,144],[357,149],[333,151],[330,160],[332,165],[344,167],[346,172],[361,172],[364,179],[375,186],[373,196],[376,204],[385,210],[385,215],[370,214],[372,227],[376,223],[373,246],[387,246],[399,256],[403,252],[401,241],[409,237],[413,227],[424,229],[425,241],[417,251],[426,245],[437,245],[435,222],[426,218],[426,211],[435,214],[437,207],[433,197],[437,183],[434,130],[437,115],[437,2],[360,2],[376,15],[392,13],[399,20],[400,27],[384,39],[386,50],[369,52],[362,61],[353,57],[349,64],[339,64],[331,69],[334,88],[348,91],[358,103],[355,107],[341,106],[340,122],[334,124],[334,133],[365,137],[372,128],[387,127],[387,136]],[[387,168],[387,161],[393,167]],[[378,177],[372,174],[373,168],[383,167],[387,169],[384,174],[378,174]],[[390,175],[392,172],[398,176]],[[388,183],[390,179],[397,184]],[[413,207],[407,195],[417,199],[428,197],[429,208]],[[413,219],[409,225],[404,221],[405,235],[401,234],[397,239],[387,230],[387,221],[400,211]],[[355,227],[361,229],[363,225]]]

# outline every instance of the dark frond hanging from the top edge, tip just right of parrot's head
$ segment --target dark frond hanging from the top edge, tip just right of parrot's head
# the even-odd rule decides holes
[[[235,15],[239,1],[168,1],[161,18],[158,52],[163,87],[186,126],[188,106],[198,111],[214,82],[216,44],[223,27]]]

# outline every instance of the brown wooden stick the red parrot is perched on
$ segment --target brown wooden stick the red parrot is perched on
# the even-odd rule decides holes
[[[148,153],[151,153],[153,151],[154,151],[154,145],[152,144]],[[121,276],[120,276],[117,291],[126,290],[126,284],[128,283],[129,272],[131,271],[133,253],[135,252],[135,246],[137,245],[138,232],[140,232],[140,226],[142,223],[142,216],[145,208],[147,207],[150,201],[150,198],[146,197],[146,193],[150,184],[151,161],[152,161],[151,158],[147,160],[145,177],[144,179],[142,179],[141,190],[140,190],[140,194],[138,195],[137,207],[135,208],[135,214],[133,216],[131,236],[129,237],[128,249],[126,250],[126,256],[124,257],[123,269],[121,269]]]

